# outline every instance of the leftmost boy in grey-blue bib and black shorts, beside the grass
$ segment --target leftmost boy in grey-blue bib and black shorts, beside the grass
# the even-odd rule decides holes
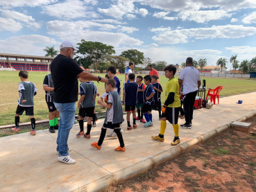
[[[19,116],[26,111],[26,115],[31,119],[31,134],[35,135],[35,117],[34,117],[34,96],[37,94],[37,88],[33,82],[28,81],[28,71],[19,71],[19,100],[15,114],[15,128],[13,131],[19,132]]]

